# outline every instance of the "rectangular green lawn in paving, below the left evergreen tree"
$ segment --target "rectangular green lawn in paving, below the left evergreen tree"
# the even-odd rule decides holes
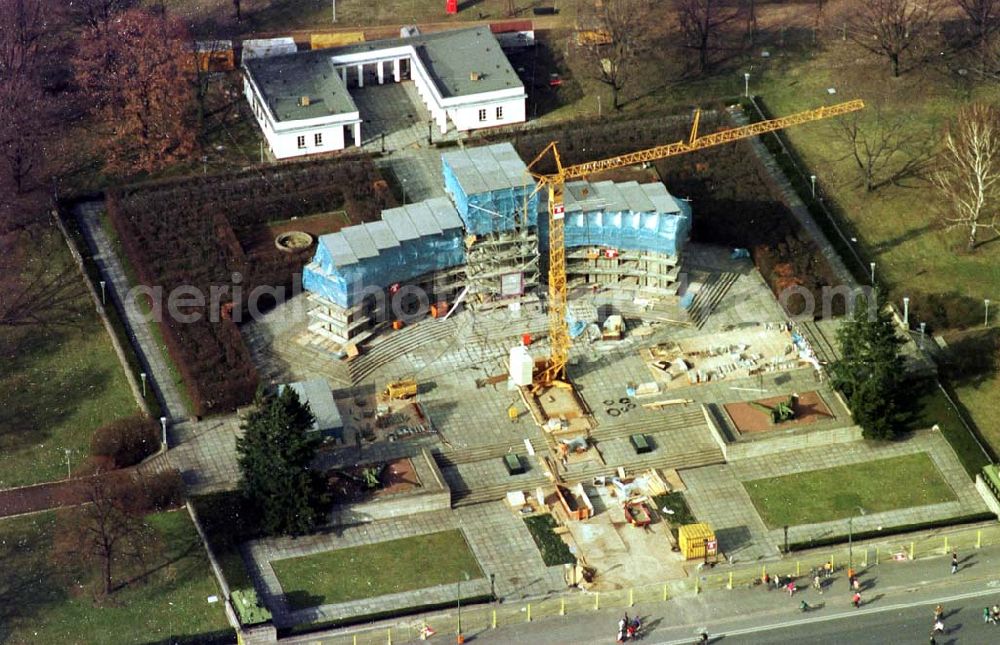
[[[482,578],[459,530],[337,549],[271,563],[296,609]]]

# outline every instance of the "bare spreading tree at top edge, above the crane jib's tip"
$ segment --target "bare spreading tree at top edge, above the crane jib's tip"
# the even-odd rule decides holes
[[[925,44],[941,6],[942,0],[865,0],[857,3],[849,33],[859,46],[886,57],[898,77],[903,55]]]

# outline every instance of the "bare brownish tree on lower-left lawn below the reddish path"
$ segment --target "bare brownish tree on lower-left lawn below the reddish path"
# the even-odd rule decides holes
[[[63,514],[56,548],[59,556],[99,564],[105,595],[122,585],[123,565],[141,563],[155,532],[143,515],[139,489],[128,475],[97,475],[87,481],[87,503]]]

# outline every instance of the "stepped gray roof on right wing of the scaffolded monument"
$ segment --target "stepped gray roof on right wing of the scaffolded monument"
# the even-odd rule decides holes
[[[617,213],[679,213],[676,200],[659,182],[640,184],[635,181],[616,183],[613,181],[571,181],[563,193],[566,211]]]

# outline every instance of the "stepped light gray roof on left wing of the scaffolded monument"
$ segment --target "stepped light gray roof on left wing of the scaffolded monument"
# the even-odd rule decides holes
[[[456,228],[462,228],[462,218],[455,206],[444,197],[435,197],[384,210],[381,220],[322,235],[319,243],[330,252],[334,266],[342,267],[377,257],[401,242]]]

